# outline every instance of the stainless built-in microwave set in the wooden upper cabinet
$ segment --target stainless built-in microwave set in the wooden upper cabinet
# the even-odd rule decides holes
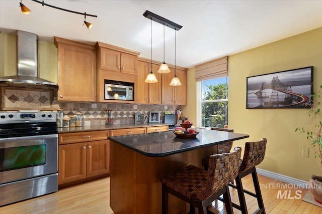
[[[105,100],[134,100],[134,83],[104,80]]]

